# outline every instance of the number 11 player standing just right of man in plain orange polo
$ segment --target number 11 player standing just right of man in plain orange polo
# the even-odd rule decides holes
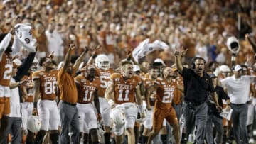
[[[100,87],[100,79],[95,77],[95,66],[87,65],[83,68],[83,72],[75,77],[75,83],[78,88],[78,119],[80,126],[80,140],[82,133],[85,133],[84,127],[87,127],[92,137],[92,143],[98,143],[97,137],[97,120],[100,121],[100,104],[99,97],[97,96],[97,89]],[[94,101],[95,108],[97,110],[97,117],[92,105]],[[86,126],[84,126],[84,124]],[[87,143],[87,136],[89,133],[84,135],[84,143]]]

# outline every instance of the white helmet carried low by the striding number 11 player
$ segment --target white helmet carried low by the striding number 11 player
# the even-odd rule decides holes
[[[116,126],[123,126],[125,123],[124,111],[122,111],[121,109],[112,109],[112,112],[110,113],[110,118]]]

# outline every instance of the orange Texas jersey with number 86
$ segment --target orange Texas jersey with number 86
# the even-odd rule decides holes
[[[42,100],[55,100],[58,70],[51,70],[49,73],[43,70],[33,72],[32,79],[40,80],[40,94]]]

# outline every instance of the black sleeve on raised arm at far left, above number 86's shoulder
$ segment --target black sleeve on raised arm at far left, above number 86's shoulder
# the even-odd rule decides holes
[[[14,77],[16,82],[20,82],[21,78],[28,72],[35,56],[36,52],[29,53],[28,57],[26,57],[26,59],[22,62],[21,66],[18,67],[18,72]]]

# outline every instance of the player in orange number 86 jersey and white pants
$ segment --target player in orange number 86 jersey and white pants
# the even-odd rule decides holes
[[[58,143],[58,107],[55,101],[58,70],[53,70],[49,57],[42,57],[39,65],[43,70],[33,72],[33,111],[38,111],[41,119],[41,130],[36,135],[35,143],[42,143],[44,135],[50,130],[50,140]],[[40,100],[39,100],[40,98]],[[39,100],[39,101],[38,101]]]

